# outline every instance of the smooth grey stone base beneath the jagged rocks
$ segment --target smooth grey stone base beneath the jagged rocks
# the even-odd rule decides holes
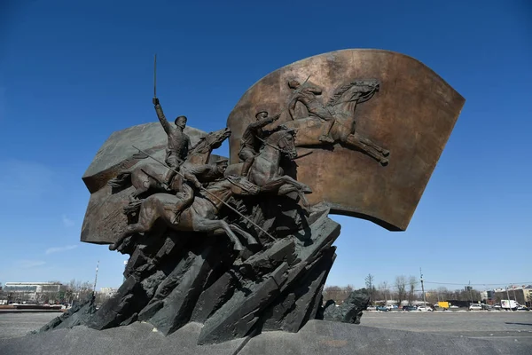
[[[0,354],[278,355],[278,354],[530,354],[532,345],[309,320],[298,333],[263,332],[253,338],[198,345],[201,325],[189,323],[164,336],[147,323],[102,331],[88,327],[0,340]]]

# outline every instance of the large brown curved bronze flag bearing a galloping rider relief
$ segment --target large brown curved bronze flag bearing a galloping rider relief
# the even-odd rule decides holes
[[[255,114],[281,114],[267,128],[297,131],[296,177],[312,188],[310,204],[404,231],[464,103],[411,57],[332,51],[282,67],[246,91],[227,120],[231,163]]]

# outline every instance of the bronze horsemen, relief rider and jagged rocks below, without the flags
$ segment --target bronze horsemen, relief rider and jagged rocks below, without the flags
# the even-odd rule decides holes
[[[171,124],[153,98],[166,133],[164,158],[132,145],[133,163],[113,170],[109,194],[101,190],[127,219],[109,248],[130,258],[126,281],[89,327],[146,320],[168,335],[195,320],[205,325],[199,343],[218,343],[261,329],[297,331],[308,319],[359,322],[364,293],[341,317],[322,305],[340,226],[326,206],[309,204],[312,190],[298,181],[296,160],[312,153],[298,156],[298,148],[339,144],[386,165],[389,152],[355,130],[356,105],[371,99],[379,82],[352,80],[322,103],[323,90],[309,78],[286,81],[291,91],[281,112],[257,107],[246,117],[239,162],[231,164],[212,157],[231,138],[229,128],[192,144],[187,118]]]

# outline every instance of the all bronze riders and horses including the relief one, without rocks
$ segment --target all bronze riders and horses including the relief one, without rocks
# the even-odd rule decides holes
[[[221,229],[239,251],[244,247],[235,233],[244,237],[249,245],[257,244],[241,227],[228,224],[220,210],[233,196],[260,194],[267,198],[268,195],[295,193],[303,206],[306,205],[304,194],[311,193],[309,186],[284,173],[286,164],[297,158],[296,146],[339,141],[387,164],[389,152],[370,139],[361,138],[355,131],[356,105],[372,98],[379,90],[378,81],[352,81],[342,85],[326,105],[317,99],[322,91],[309,82],[309,78],[302,84],[296,79],[287,84],[293,89],[287,107],[292,121],[266,130],[265,127],[276,122],[280,114],[269,116],[266,111],[255,114],[255,121],[247,125],[240,141],[240,162],[231,166],[227,161],[207,163],[212,150],[231,135],[228,129],[211,132],[196,146],[191,146],[190,138],[184,133],[186,116],[177,116],[173,127],[163,114],[159,99],[153,98],[157,117],[168,136],[166,166],[162,162],[149,162],[134,171],[121,172],[109,182],[118,187],[129,177],[136,190],[124,213],[129,219],[137,215],[133,218],[137,221],[128,225],[109,248],[115,250],[129,236],[149,232],[160,218],[176,231],[213,233]],[[294,108],[298,102],[307,108],[308,117],[295,117]],[[243,185],[246,188],[241,188]]]

